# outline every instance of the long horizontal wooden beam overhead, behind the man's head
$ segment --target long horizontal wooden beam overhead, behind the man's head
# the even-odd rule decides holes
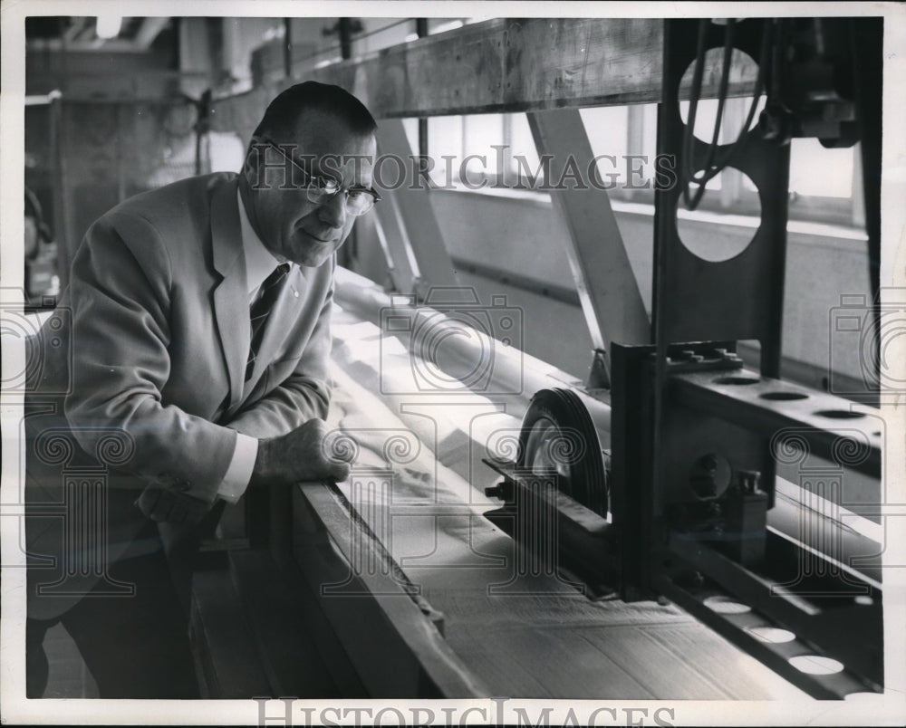
[[[240,130],[266,101],[298,81],[335,83],[377,118],[478,114],[660,101],[663,21],[657,18],[500,18],[400,43],[361,61],[296,64],[293,77],[217,101],[217,117]],[[310,61],[308,62],[310,63]],[[717,94],[720,61],[709,62],[702,96]],[[742,67],[729,94],[752,82]],[[751,80],[750,80],[751,81]],[[686,98],[687,90],[680,90]],[[252,110],[239,110],[245,106]],[[254,127],[254,124],[252,125]]]

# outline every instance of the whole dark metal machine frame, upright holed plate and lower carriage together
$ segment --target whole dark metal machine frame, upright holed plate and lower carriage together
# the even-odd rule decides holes
[[[771,22],[738,24],[737,46],[760,57],[756,49]],[[665,22],[658,151],[674,155],[678,168],[687,162],[679,80],[697,56],[698,32],[699,21]],[[709,24],[704,47],[722,43],[723,31]],[[763,207],[753,241],[734,258],[711,263],[693,254],[679,240],[681,190],[657,190],[655,344],[621,341],[611,350],[612,528],[607,531],[611,538],[592,548],[598,550],[601,569],[616,556],[613,586],[622,599],[675,599],[814,697],[880,692],[882,585],[871,563],[877,554],[861,551],[865,544],[855,544],[853,552],[841,524],[810,511],[807,503],[792,517],[787,503],[776,506],[775,457],[801,449],[803,458],[833,461],[834,472],[816,475],[821,480],[814,487],[839,505],[844,472],[880,481],[881,436],[873,432],[871,418],[853,412],[848,400],[775,379],[789,151],[783,139],[766,137],[747,132],[746,145],[732,159],[755,181]],[[705,163],[707,150],[692,142],[696,167]],[[761,342],[760,375],[742,369],[733,352],[737,340],[746,339]],[[699,468],[699,463],[707,465]],[[501,472],[506,480],[494,494],[507,502],[528,500],[528,512],[544,504],[531,476]],[[713,493],[699,490],[702,482]],[[803,492],[806,501],[814,495],[807,487]],[[775,506],[779,518],[768,515]],[[593,536],[593,529],[571,517],[569,509],[559,503],[557,508],[561,520],[586,540]],[[772,522],[784,522],[786,529]],[[746,615],[722,614],[708,597],[741,602]],[[788,642],[772,644],[752,631],[776,624],[792,630]],[[813,675],[791,661],[815,655],[839,660],[843,671]]]

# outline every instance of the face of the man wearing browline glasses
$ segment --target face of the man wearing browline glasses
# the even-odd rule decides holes
[[[352,230],[355,216],[346,210],[345,190],[371,187],[376,142],[373,135],[357,134],[342,118],[323,111],[304,111],[291,136],[271,140],[307,172],[333,180],[342,189],[321,203],[312,202],[304,187],[305,175],[276,149],[262,148],[257,161],[260,165],[266,160],[266,171],[250,176],[246,208],[250,203],[249,218],[271,253],[316,267],[333,255]]]

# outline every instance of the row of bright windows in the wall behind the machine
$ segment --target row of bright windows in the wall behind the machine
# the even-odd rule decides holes
[[[736,138],[749,102],[728,100],[719,143]],[[697,136],[710,139],[716,112],[717,101],[699,102]],[[600,157],[599,177],[613,185],[612,199],[653,204],[657,105],[594,107],[580,114],[593,154]],[[412,135],[417,138],[414,126]],[[524,113],[432,117],[428,139],[429,156],[435,162],[431,179],[438,187],[530,190],[545,181]],[[414,140],[413,148],[417,148]],[[707,189],[701,209],[757,215],[756,187],[736,169],[721,171],[708,181]],[[824,148],[817,139],[793,139],[789,192],[790,219],[863,225],[858,144]]]

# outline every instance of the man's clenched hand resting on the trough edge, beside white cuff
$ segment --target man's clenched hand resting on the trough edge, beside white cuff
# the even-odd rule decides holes
[[[259,440],[251,484],[346,480],[350,464],[341,459],[342,453],[332,453],[340,448],[325,443],[326,435],[323,419],[310,419],[286,435]]]

